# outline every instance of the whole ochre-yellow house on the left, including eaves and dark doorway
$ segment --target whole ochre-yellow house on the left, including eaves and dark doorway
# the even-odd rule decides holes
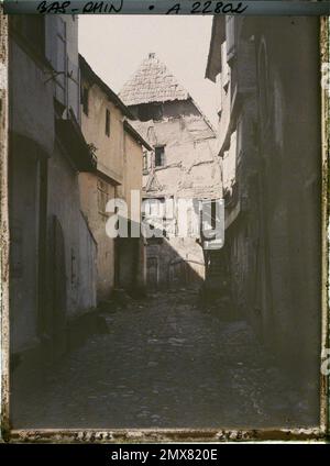
[[[119,97],[80,56],[81,131],[96,156],[96,170],[79,174],[81,209],[98,245],[97,299],[110,298],[114,287],[130,289],[144,282],[144,245],[129,237],[109,237],[106,231],[110,199],[128,201],[141,193],[143,147],[148,145],[128,123],[133,115]],[[124,247],[122,246],[124,242]],[[136,244],[135,244],[136,243]],[[136,249],[136,251],[135,251]],[[140,251],[141,249],[141,251]],[[129,270],[130,280],[124,270]]]

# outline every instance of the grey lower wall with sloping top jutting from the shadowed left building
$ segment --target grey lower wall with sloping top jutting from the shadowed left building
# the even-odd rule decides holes
[[[63,231],[66,307],[73,317],[96,307],[96,242],[81,217],[78,174],[58,145],[48,162],[47,212],[48,219],[57,219]]]

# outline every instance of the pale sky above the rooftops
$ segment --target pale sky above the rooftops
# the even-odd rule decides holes
[[[211,26],[210,15],[81,15],[79,52],[114,92],[154,52],[215,123],[215,84],[205,79]]]

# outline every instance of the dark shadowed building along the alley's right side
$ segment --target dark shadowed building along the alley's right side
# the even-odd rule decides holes
[[[318,26],[217,16],[206,71],[219,100],[231,296],[309,402],[321,315]]]

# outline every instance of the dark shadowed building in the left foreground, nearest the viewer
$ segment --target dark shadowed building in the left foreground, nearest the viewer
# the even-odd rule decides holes
[[[9,33],[11,367],[28,382],[96,307],[97,244],[78,186],[95,159],[79,126],[77,18],[16,15]]]

